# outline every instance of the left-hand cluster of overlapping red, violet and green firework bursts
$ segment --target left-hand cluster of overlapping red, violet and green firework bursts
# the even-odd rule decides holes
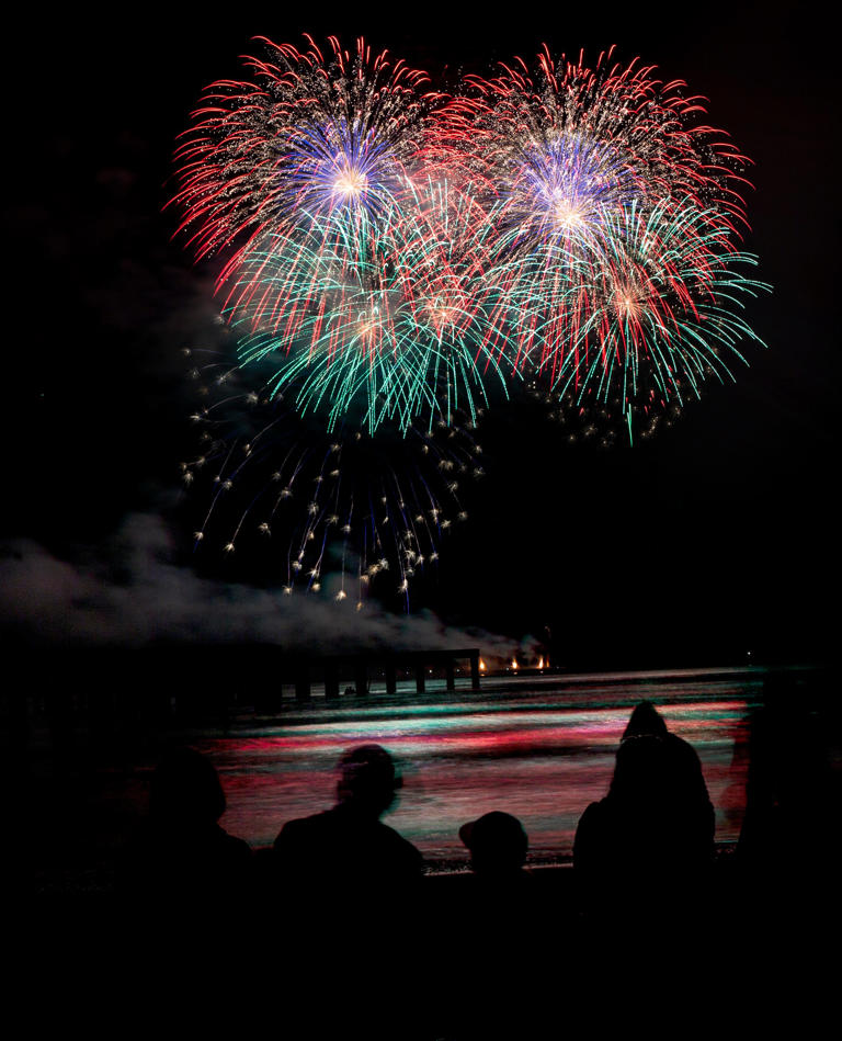
[[[424,75],[330,45],[270,44],[254,83],[208,89],[177,154],[180,230],[198,257],[234,249],[223,314],[272,395],[329,430],[475,415],[502,385],[485,214],[426,169]]]

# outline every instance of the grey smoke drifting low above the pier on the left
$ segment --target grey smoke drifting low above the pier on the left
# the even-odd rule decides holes
[[[0,621],[30,646],[264,643],[305,654],[480,646],[507,658],[517,644],[475,629],[453,629],[432,612],[391,615],[371,601],[356,611],[325,597],[197,577],[173,563],[163,520],[129,514],[105,545],[70,563],[19,539],[0,547]]]

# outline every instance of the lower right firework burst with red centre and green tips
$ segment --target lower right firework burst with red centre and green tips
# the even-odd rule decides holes
[[[748,276],[756,259],[735,248],[718,214],[690,201],[632,206],[612,225],[602,262],[578,272],[590,308],[569,323],[553,382],[577,405],[585,389],[603,404],[618,392],[630,422],[641,401],[683,405],[706,380],[733,378],[740,341],[760,342],[746,302],[766,286]]]

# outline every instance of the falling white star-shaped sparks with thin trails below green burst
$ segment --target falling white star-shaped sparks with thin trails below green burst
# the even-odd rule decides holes
[[[362,603],[372,586],[406,597],[443,532],[467,519],[462,494],[483,474],[474,423],[328,435],[282,401],[241,393],[241,375],[200,371],[202,397],[216,400],[195,414],[198,452],[182,464],[207,497],[196,546],[249,556],[262,544],[288,593],[318,591],[329,573],[340,600]]]

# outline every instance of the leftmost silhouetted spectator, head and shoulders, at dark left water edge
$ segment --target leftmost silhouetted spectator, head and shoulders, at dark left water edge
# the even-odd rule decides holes
[[[130,850],[124,881],[140,896],[213,912],[248,895],[251,850],[218,824],[225,813],[215,767],[193,748],[163,755],[151,779],[149,818]]]

